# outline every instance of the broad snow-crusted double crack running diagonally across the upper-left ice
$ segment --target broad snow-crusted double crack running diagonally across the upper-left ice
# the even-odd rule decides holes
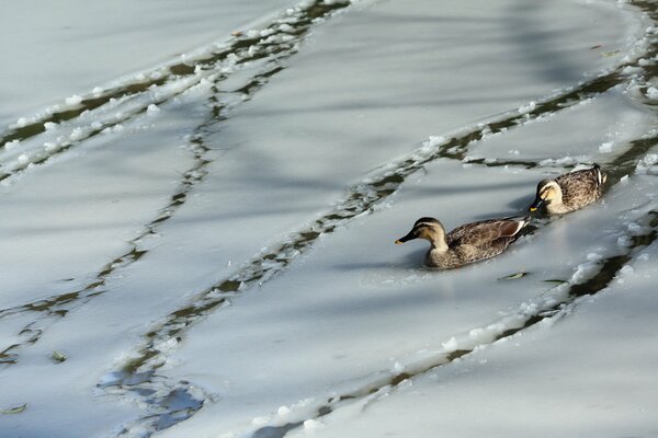
[[[212,80],[216,74],[228,76],[250,62],[265,60],[270,57],[285,58],[296,53],[297,45],[308,33],[314,22],[330,13],[345,9],[350,4],[351,0],[304,1],[297,7],[288,9],[286,11],[287,18],[280,16],[261,31],[249,31],[243,35],[236,36],[230,39],[228,46],[219,47],[214,53],[170,66],[167,71],[161,71],[161,68],[152,71],[150,76],[154,78],[150,80],[144,81],[141,79],[136,83],[128,83],[102,92],[98,96],[92,95],[82,99],[80,102],[77,99],[65,111],[46,117],[37,117],[25,126],[10,130],[10,132],[0,137],[0,154],[9,153],[10,155],[10,161],[0,161],[0,168],[4,169],[0,171],[0,182],[31,166],[44,164],[71,147],[80,145],[106,129],[121,126],[122,123],[147,112],[150,105],[169,102],[202,81]],[[282,27],[284,23],[287,26]],[[280,70],[275,70],[272,74]],[[225,78],[222,77],[222,79]],[[266,82],[266,77],[253,78],[253,81],[258,88],[259,84]],[[246,89],[242,92],[251,93],[252,91],[254,90]],[[48,125],[80,119],[80,116],[89,114],[89,112],[100,112],[107,110],[106,107],[114,110],[117,100],[122,104],[133,104],[120,117],[107,116],[103,122],[95,120],[89,125],[75,127],[68,135],[59,136],[54,141],[34,146],[27,151],[23,151],[24,148],[15,148],[16,143],[21,146],[21,141],[46,132]]]

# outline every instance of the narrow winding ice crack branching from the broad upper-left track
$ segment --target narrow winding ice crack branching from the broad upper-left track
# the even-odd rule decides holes
[[[178,210],[180,206],[184,204],[188,193],[192,191],[192,188],[205,177],[207,173],[206,168],[209,163],[213,162],[213,160],[206,157],[207,152],[211,149],[204,142],[204,137],[209,132],[211,126],[225,120],[226,117],[223,115],[223,113],[226,108],[234,107],[240,104],[241,102],[250,100],[253,96],[253,94],[270,80],[270,78],[272,78],[274,74],[284,69],[284,66],[281,65],[281,61],[283,61],[284,59],[288,58],[297,51],[298,43],[306,36],[315,20],[328,16],[331,13],[334,13],[348,7],[349,4],[349,2],[325,3],[322,1],[303,3],[303,5],[291,10],[291,12],[288,12],[287,19],[276,19],[273,21],[272,24],[270,24],[269,27],[266,27],[270,30],[274,30],[273,32],[268,33],[268,36],[276,35],[275,31],[280,27],[281,20],[285,20],[288,24],[285,34],[294,35],[294,37],[286,38],[286,41],[281,44],[269,42],[263,43],[261,39],[264,38],[264,36],[250,38],[249,43],[246,43],[243,41],[236,43],[241,49],[247,49],[247,53],[243,53],[243,56],[235,56],[234,61],[237,60],[237,62],[245,64],[247,61],[252,61],[253,59],[263,59],[266,61],[265,68],[259,71],[258,73],[253,74],[247,83],[247,85],[230,92],[230,94],[239,94],[241,96],[241,99],[232,105],[222,102],[218,97],[220,94],[226,95],[226,92],[222,92],[218,89],[218,84],[224,79],[226,79],[226,74],[220,74],[212,78],[214,84],[212,87],[213,94],[209,97],[211,116],[206,122],[204,122],[197,127],[196,134],[191,136],[191,146],[189,147],[189,149],[194,158],[194,162],[192,166],[183,173],[183,181],[180,183],[178,189],[171,196],[169,204],[162,209],[160,209],[156,219],[147,223],[144,227],[143,231],[140,231],[137,237],[133,238],[128,242],[128,245],[131,247],[128,252],[122,254],[121,256],[114,258],[112,262],[103,266],[103,268],[101,268],[101,270],[94,275],[93,279],[87,285],[84,285],[81,289],[49,297],[46,299],[41,299],[10,309],[0,310],[0,319],[2,319],[3,316],[22,312],[38,312],[41,314],[39,316],[37,316],[36,321],[30,322],[21,331],[20,335],[22,337],[27,337],[26,339],[20,343],[12,344],[4,350],[0,351],[0,365],[16,364],[18,349],[36,343],[42,337],[47,326],[52,325],[55,321],[59,320],[60,318],[66,316],[66,314],[69,311],[79,308],[93,297],[105,293],[106,290],[103,289],[103,286],[105,285],[106,280],[113,274],[116,273],[117,269],[125,268],[132,265],[148,252],[147,249],[143,249],[141,243],[149,237],[156,235],[157,228],[167,220],[169,220],[173,216],[175,210]],[[291,16],[295,20],[295,22],[291,21]],[[249,50],[249,48],[254,47],[254,44],[260,45],[262,47],[258,50]],[[197,82],[195,81],[194,84],[196,83]],[[189,89],[190,87],[179,87],[177,88],[178,91],[175,94],[182,94]],[[162,99],[157,103],[160,104],[168,100],[169,99]],[[148,106],[139,106],[135,111],[135,114],[145,113],[147,108]],[[125,119],[127,118],[131,117],[126,117]],[[102,129],[103,128],[100,127],[94,129],[94,131],[90,134],[89,137],[98,135],[100,131],[102,131]],[[86,137],[84,139],[89,137]],[[70,147],[70,145],[68,147]],[[50,157],[44,158],[44,160],[47,160]],[[2,174],[0,173],[0,181],[1,180]],[[35,328],[37,324],[39,325],[39,327]]]

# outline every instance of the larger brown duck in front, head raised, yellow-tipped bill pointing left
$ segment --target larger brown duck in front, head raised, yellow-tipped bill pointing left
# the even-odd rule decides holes
[[[487,219],[465,223],[446,234],[439,219],[424,217],[418,219],[411,231],[395,243],[424,239],[431,245],[426,254],[426,265],[454,269],[502,253],[529,223],[530,217]]]

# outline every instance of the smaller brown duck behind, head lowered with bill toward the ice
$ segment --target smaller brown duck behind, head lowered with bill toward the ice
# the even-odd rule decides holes
[[[542,180],[537,184],[535,200],[529,207],[536,211],[544,206],[548,215],[564,215],[578,210],[601,197],[608,175],[601,166],[565,173],[555,180]]]

